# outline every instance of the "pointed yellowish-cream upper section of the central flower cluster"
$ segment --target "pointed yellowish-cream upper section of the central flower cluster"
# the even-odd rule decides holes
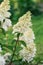
[[[30,20],[31,20],[31,13],[27,12],[22,17],[20,17],[18,23],[14,25],[13,33],[17,31],[20,33],[24,33],[25,31],[27,31],[28,28],[32,26]]]

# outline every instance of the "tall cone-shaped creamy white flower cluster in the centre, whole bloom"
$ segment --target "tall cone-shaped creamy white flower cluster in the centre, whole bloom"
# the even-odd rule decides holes
[[[28,11],[26,14],[19,18],[18,23],[13,27],[13,33],[23,33],[23,35],[19,37],[19,40],[23,40],[26,43],[26,47],[21,44],[23,49],[20,50],[19,54],[23,58],[23,61],[26,60],[28,62],[33,60],[33,57],[36,54],[36,47],[34,44],[35,36],[31,28],[32,23],[30,21],[31,13]]]

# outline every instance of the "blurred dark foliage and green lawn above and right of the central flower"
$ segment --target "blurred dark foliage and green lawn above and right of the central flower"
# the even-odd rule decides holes
[[[3,0],[0,0],[0,3]],[[43,0],[10,0],[13,24],[18,22],[18,18],[27,11],[32,13],[32,24],[35,33],[35,43],[37,47],[36,57],[43,61]]]

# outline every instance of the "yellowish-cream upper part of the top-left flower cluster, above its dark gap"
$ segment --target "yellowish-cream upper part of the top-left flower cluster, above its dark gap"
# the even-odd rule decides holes
[[[11,16],[9,10],[10,10],[9,0],[4,0],[0,4],[0,14],[4,17],[4,19],[9,18]],[[3,19],[3,17],[1,17],[1,19]]]

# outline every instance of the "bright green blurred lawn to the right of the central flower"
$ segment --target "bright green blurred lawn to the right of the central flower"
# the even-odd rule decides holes
[[[35,43],[37,47],[37,55],[43,59],[43,15],[32,17],[33,30],[35,33]]]

